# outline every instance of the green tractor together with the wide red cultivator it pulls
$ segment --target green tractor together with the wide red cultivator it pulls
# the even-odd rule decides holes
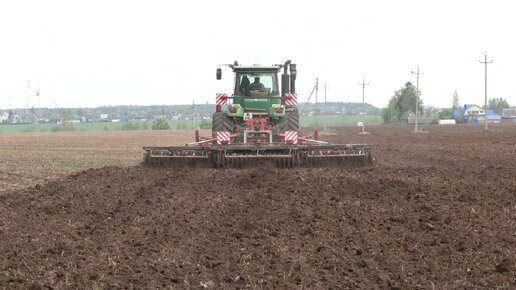
[[[144,164],[172,167],[299,167],[372,164],[370,144],[329,144],[301,136],[296,65],[225,65],[231,95],[216,94],[212,136],[185,146],[146,146]],[[281,84],[279,74],[281,74]],[[217,69],[222,79],[222,68]]]

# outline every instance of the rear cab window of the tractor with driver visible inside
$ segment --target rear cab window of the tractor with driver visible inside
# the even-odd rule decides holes
[[[235,94],[251,97],[268,97],[278,94],[275,73],[241,73],[236,76]]]

